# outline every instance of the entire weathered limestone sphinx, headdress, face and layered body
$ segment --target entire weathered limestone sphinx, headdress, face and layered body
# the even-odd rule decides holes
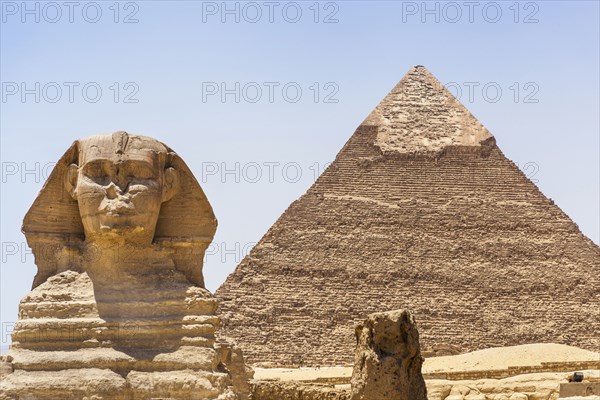
[[[75,141],[23,222],[38,272],[0,399],[246,398],[204,287],[216,228],[168,146],[126,132]]]

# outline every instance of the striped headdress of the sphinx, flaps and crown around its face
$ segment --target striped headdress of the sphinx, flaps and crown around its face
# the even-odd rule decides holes
[[[147,136],[115,132],[75,141],[60,158],[25,215],[22,231],[35,256],[38,273],[33,287],[65,270],[81,270],[85,233],[77,200],[67,188],[69,166],[80,165],[86,152],[156,152],[163,168],[174,168],[179,188],[162,203],[153,243],[171,250],[177,269],[204,287],[202,259],[217,229],[217,220],[200,184],[171,148]]]

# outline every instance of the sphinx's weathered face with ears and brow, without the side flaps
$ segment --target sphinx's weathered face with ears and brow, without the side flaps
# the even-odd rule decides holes
[[[79,206],[86,241],[150,244],[160,208],[179,189],[172,156],[151,138],[116,132],[79,140],[65,187]]]

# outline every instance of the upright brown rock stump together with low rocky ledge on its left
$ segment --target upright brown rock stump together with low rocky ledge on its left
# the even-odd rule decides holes
[[[253,400],[427,400],[416,323],[408,311],[370,315],[356,328],[351,390],[333,385],[253,381]]]

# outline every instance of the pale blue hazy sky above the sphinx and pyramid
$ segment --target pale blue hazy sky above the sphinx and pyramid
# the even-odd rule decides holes
[[[0,7],[3,349],[36,270],[23,216],[75,139],[126,130],[182,156],[219,220],[214,291],[415,64],[599,241],[597,1]]]

